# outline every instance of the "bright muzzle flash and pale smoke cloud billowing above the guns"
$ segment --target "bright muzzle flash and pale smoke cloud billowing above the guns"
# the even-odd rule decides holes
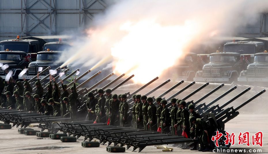
[[[116,74],[129,72],[135,83],[146,83],[197,43],[234,36],[267,8],[265,0],[119,0],[95,16],[88,36],[61,60],[74,67],[112,61]]]

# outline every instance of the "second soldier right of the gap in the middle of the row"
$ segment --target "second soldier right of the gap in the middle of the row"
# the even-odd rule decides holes
[[[142,103],[141,103],[141,95],[136,95],[135,96],[136,99],[136,106],[135,106],[135,115],[136,115],[136,125],[138,129],[142,129],[143,127],[143,116],[142,116]]]

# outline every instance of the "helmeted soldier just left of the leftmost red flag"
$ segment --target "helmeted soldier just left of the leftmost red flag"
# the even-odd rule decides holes
[[[95,107],[96,104],[98,103],[97,98],[94,97],[92,92],[88,92],[87,94],[88,99],[86,100],[86,108],[88,111],[88,119],[87,120],[95,120],[96,116],[95,116]]]

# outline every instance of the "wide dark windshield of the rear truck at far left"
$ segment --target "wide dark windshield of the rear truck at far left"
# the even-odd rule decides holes
[[[0,44],[0,51],[4,51],[6,49],[12,51],[24,51],[28,52],[29,44],[22,44],[22,43],[1,43]]]

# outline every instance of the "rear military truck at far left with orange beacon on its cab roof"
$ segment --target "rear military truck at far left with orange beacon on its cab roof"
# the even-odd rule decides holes
[[[0,51],[6,49],[12,51],[23,51],[27,53],[27,56],[31,61],[36,60],[36,53],[42,51],[42,48],[46,44],[46,41],[37,37],[22,37],[17,36],[16,39],[3,40],[0,42]]]

